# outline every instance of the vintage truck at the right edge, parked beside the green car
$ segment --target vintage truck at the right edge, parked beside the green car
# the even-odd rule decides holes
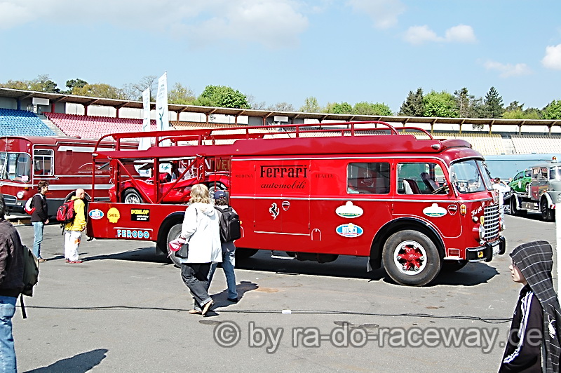
[[[508,198],[511,214],[525,215],[528,211],[541,212],[546,222],[555,220],[555,203],[561,202],[561,164],[557,158],[531,168],[531,180],[525,191],[515,191]]]

